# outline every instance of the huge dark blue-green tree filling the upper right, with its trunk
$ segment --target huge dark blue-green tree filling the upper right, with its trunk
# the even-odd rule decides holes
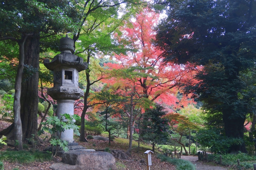
[[[159,3],[159,1],[158,1]],[[157,28],[156,44],[166,61],[203,65],[195,86],[187,88],[209,114],[222,114],[226,137],[244,136],[246,114],[255,94],[241,75],[255,67],[255,0],[161,1],[167,18]],[[254,70],[254,69],[253,69]],[[246,152],[245,145],[230,152]]]

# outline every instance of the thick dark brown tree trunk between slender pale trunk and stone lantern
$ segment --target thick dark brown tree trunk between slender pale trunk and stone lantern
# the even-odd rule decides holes
[[[37,137],[37,112],[38,112],[38,68],[39,68],[39,38],[28,37],[25,42],[24,64],[29,69],[23,73],[21,108],[23,141],[34,134]],[[29,75],[26,74],[29,72]],[[26,141],[25,141],[26,142]]]

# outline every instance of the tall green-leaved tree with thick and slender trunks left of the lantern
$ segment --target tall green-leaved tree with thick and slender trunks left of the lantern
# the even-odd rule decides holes
[[[72,11],[74,12],[72,5],[67,1],[1,2],[0,40],[15,41],[19,47],[14,126],[12,125],[14,129],[10,126],[1,134],[8,134],[9,139],[14,134],[15,140],[19,141],[20,150],[22,141],[36,134],[37,130],[39,39],[48,34],[72,31],[72,20],[68,17]]]

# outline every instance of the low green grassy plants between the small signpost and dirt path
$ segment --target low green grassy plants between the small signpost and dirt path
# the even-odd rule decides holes
[[[158,154],[157,158],[160,159],[161,161],[175,165],[177,170],[196,170],[196,167],[195,165],[193,165],[192,162],[184,159],[172,159],[161,154]]]

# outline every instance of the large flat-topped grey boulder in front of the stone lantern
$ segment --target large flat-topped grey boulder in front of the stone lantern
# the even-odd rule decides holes
[[[52,170],[117,170],[116,160],[108,152],[93,149],[72,150],[62,155],[61,163],[50,166]]]

